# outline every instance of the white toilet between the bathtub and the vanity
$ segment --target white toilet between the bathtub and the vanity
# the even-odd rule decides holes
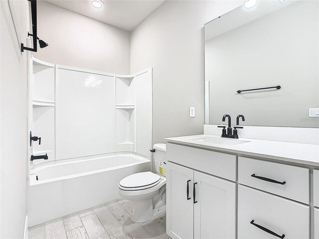
[[[165,143],[154,144],[156,172],[135,173],[119,183],[119,194],[129,201],[132,222],[152,220],[166,210]]]

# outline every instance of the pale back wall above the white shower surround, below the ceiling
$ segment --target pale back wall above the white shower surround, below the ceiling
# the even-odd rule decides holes
[[[38,37],[49,44],[38,59],[66,66],[128,74],[130,32],[40,0]]]

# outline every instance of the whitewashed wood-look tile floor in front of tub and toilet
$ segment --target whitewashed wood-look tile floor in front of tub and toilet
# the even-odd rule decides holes
[[[170,239],[162,215],[132,223],[126,200],[118,199],[29,228],[29,239]]]

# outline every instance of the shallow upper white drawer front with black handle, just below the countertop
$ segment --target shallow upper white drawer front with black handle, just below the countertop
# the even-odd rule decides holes
[[[307,168],[238,157],[238,183],[310,203],[310,174]]]

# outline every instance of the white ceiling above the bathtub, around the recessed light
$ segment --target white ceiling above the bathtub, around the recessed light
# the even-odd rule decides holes
[[[102,0],[104,6],[95,8],[92,0],[46,0],[54,5],[74,11],[107,24],[133,30],[164,0]]]

